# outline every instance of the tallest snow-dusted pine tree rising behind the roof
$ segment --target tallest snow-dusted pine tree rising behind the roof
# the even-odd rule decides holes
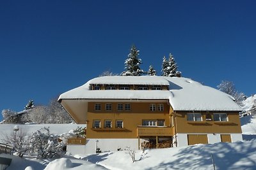
[[[141,76],[144,73],[140,69],[141,59],[138,58],[140,55],[140,50],[137,50],[136,46],[132,46],[130,53],[128,54],[128,59],[125,60],[126,71],[122,72],[121,75],[125,76],[126,73],[131,74],[131,76]]]

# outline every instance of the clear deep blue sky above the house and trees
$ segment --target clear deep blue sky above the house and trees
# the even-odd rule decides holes
[[[173,53],[182,76],[256,94],[256,1],[1,1],[0,110],[23,110],[109,70],[131,48],[161,74]],[[1,117],[0,117],[1,120]]]

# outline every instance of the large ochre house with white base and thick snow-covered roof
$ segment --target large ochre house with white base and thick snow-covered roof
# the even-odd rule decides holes
[[[189,78],[102,76],[58,100],[77,124],[86,124],[80,148],[86,153],[242,140],[234,98]]]

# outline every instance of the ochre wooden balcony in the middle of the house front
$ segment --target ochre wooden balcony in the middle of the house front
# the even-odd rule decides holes
[[[173,136],[172,127],[137,127],[137,136]]]

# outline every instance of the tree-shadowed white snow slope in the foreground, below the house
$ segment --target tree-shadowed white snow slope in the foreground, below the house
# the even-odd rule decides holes
[[[256,141],[193,145],[136,151],[136,162],[126,151],[89,155],[84,159],[108,169],[255,169]]]

